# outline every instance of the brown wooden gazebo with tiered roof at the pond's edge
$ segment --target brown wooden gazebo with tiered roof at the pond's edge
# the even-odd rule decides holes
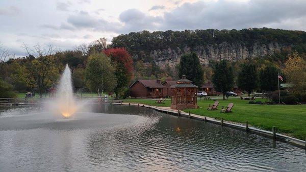
[[[175,85],[171,88],[171,109],[195,109],[196,92],[198,87],[191,84],[191,81],[186,79],[183,75],[182,79],[176,81]]]

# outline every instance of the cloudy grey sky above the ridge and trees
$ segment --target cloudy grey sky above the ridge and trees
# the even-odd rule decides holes
[[[142,30],[279,28],[306,31],[304,0],[0,0],[0,42],[61,50]]]

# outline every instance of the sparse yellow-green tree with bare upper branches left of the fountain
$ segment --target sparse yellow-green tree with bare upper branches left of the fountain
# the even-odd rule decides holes
[[[56,65],[53,55],[56,49],[51,44],[46,46],[35,44],[33,50],[23,45],[29,58],[19,69],[19,76],[23,77],[28,86],[35,88],[42,97],[47,87],[53,86],[59,78],[60,66]]]

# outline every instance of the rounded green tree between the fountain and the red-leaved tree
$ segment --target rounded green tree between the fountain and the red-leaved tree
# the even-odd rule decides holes
[[[88,57],[85,79],[91,91],[100,96],[104,91],[113,91],[116,87],[115,67],[104,53],[92,53]]]

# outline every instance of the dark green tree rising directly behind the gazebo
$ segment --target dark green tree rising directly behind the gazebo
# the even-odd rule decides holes
[[[179,78],[186,75],[196,86],[203,84],[203,69],[196,53],[185,54],[181,57],[179,66]]]

